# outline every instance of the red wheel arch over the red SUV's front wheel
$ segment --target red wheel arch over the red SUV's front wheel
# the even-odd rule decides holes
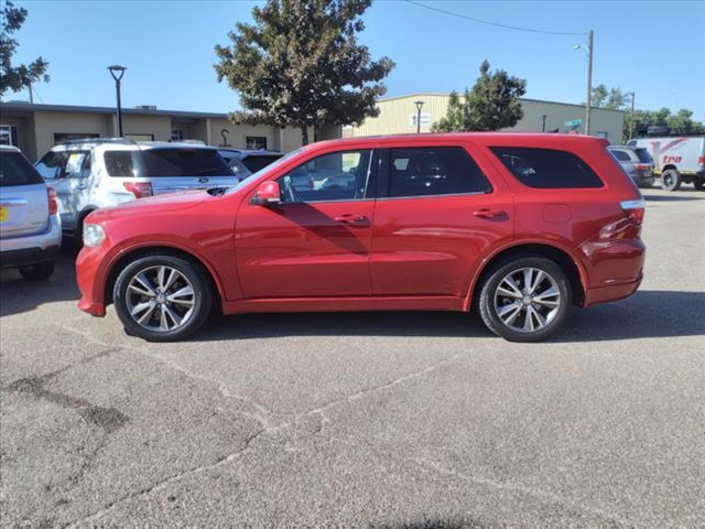
[[[118,255],[113,261],[111,261],[106,273],[104,275],[104,281],[102,286],[102,294],[104,299],[104,305],[109,305],[113,303],[113,289],[115,287],[115,281],[118,279],[118,275],[121,270],[128,264],[139,257],[144,255],[154,255],[155,253],[162,253],[164,255],[173,255],[175,257],[181,257],[183,259],[189,260],[195,265],[201,267],[203,271],[208,276],[211,281],[211,286],[213,288],[214,300],[216,303],[221,304],[222,300],[225,299],[225,292],[223,290],[223,285],[216,273],[214,267],[209,264],[206,260],[202,259],[195,253],[186,250],[185,248],[180,248],[176,245],[169,245],[166,243],[159,243],[157,245],[141,245],[128,250],[123,251]]]

